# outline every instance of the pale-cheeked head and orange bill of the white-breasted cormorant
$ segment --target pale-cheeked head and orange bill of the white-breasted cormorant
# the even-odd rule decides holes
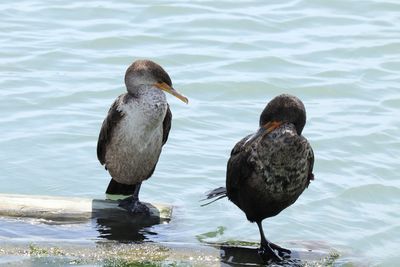
[[[151,60],[136,60],[125,73],[125,84],[128,92],[137,94],[142,86],[156,87],[179,98],[186,104],[188,99],[172,87],[168,73],[157,63]]]

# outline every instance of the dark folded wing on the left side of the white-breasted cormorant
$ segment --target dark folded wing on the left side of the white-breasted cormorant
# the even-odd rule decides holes
[[[111,105],[107,117],[104,119],[103,125],[101,126],[99,140],[97,141],[97,158],[101,165],[104,165],[106,162],[107,145],[111,142],[114,129],[124,116],[123,113],[118,110],[118,105],[122,97],[123,95],[120,95]]]

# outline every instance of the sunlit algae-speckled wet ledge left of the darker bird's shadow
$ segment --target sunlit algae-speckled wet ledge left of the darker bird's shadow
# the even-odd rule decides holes
[[[207,253],[184,248],[169,248],[161,244],[120,244],[117,242],[96,245],[8,244],[1,246],[1,256],[28,256],[26,262],[40,264],[68,264],[94,266],[217,266],[218,252]],[[30,259],[30,260],[29,260]],[[21,264],[30,266],[30,264]]]

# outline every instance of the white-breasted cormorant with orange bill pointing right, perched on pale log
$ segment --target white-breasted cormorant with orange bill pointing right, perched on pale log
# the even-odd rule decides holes
[[[119,95],[104,119],[97,142],[97,158],[111,175],[107,194],[130,195],[119,206],[132,214],[149,214],[139,191],[157,165],[168,140],[172,113],[164,92],[184,103],[188,99],[172,87],[168,73],[142,59],[126,70],[127,92]]]

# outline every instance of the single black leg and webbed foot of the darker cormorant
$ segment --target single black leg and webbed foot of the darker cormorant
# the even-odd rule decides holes
[[[261,256],[261,258],[264,261],[273,260],[278,262],[282,261],[283,258],[287,258],[289,256],[288,254],[290,254],[291,251],[269,242],[265,238],[261,221],[257,222],[257,226],[258,229],[260,230],[260,236],[261,236],[261,246],[258,251],[258,254]]]

